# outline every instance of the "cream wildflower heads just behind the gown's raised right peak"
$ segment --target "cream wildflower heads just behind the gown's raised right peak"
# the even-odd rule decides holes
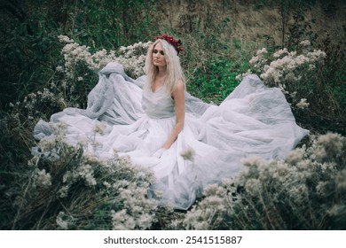
[[[251,58],[252,66],[245,74],[237,76],[241,80],[248,74],[259,74],[268,86],[279,87],[287,96],[287,100],[296,109],[305,109],[310,103],[305,97],[310,84],[318,81],[318,69],[324,64],[326,52],[312,50],[309,41],[300,43],[299,52],[288,51],[287,48],[277,50],[273,54],[263,48],[257,50]]]

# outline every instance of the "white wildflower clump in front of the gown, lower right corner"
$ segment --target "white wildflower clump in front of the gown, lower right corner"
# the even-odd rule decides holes
[[[244,161],[238,177],[209,186],[181,229],[340,229],[346,223],[346,139],[311,136],[285,160]],[[324,221],[321,221],[324,220]]]

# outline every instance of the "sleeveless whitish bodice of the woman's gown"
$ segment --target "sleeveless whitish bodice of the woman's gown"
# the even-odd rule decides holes
[[[153,119],[169,118],[175,115],[174,100],[166,94],[165,87],[152,90],[143,90],[142,108]]]

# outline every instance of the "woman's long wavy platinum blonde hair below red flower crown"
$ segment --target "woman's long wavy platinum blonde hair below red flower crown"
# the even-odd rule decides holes
[[[176,89],[177,81],[182,80],[185,82],[185,75],[182,67],[180,66],[180,59],[177,56],[177,50],[171,44],[161,39],[156,40],[147,51],[145,59],[145,74],[147,77],[144,89],[153,89],[153,81],[155,80],[156,75],[159,73],[159,68],[157,66],[153,66],[153,48],[157,43],[161,43],[162,50],[165,54],[167,71],[163,83],[166,86],[167,94],[170,95]]]

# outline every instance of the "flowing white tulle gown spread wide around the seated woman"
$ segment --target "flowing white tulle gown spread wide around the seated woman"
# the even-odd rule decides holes
[[[157,158],[153,154],[176,124],[174,100],[164,87],[143,90],[144,81],[131,79],[121,65],[110,63],[100,71],[86,110],[67,108],[50,121],[67,124],[70,143],[90,136],[100,144],[98,156],[110,158],[116,150],[130,156],[133,164],[153,170],[157,182],[150,194],[161,190],[160,202],[169,200],[177,209],[193,205],[208,184],[238,174],[241,159],[282,159],[308,133],[296,125],[280,89],[266,88],[253,74],[218,106],[185,92],[185,127]],[[95,136],[101,122],[106,123],[104,133]],[[49,123],[36,124],[35,138],[53,135]],[[193,156],[184,159],[182,153],[189,151]]]

